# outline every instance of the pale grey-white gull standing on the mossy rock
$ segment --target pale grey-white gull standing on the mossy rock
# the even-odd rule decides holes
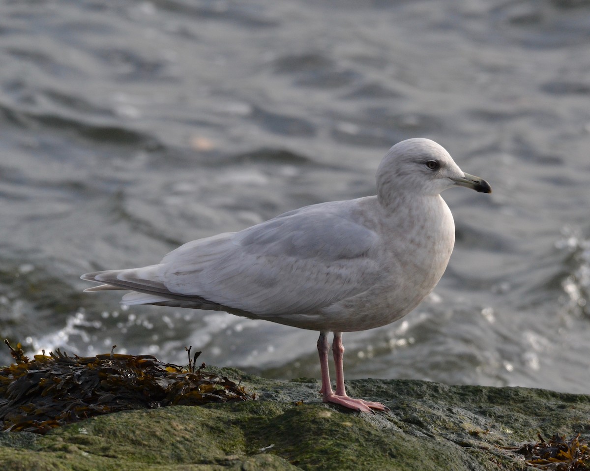
[[[434,289],[455,242],[453,215],[440,193],[457,186],[491,192],[436,142],[407,139],[379,165],[375,196],[306,206],[186,243],[155,265],[81,278],[102,283],[86,292],[129,290],[123,305],[222,310],[319,331],[323,402],[386,411],[346,394],[342,333],[394,322]]]

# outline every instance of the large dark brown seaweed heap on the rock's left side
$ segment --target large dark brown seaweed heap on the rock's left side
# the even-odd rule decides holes
[[[54,427],[117,411],[165,405],[202,405],[253,398],[244,387],[196,367],[163,363],[151,355],[69,356],[55,349],[24,355],[5,341],[15,363],[0,369],[0,430],[47,433]]]

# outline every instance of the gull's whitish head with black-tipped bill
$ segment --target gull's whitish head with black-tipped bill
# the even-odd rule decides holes
[[[466,174],[434,140],[402,140],[389,149],[377,170],[377,195],[387,203],[398,198],[435,196],[452,187],[491,193],[485,180]]]

